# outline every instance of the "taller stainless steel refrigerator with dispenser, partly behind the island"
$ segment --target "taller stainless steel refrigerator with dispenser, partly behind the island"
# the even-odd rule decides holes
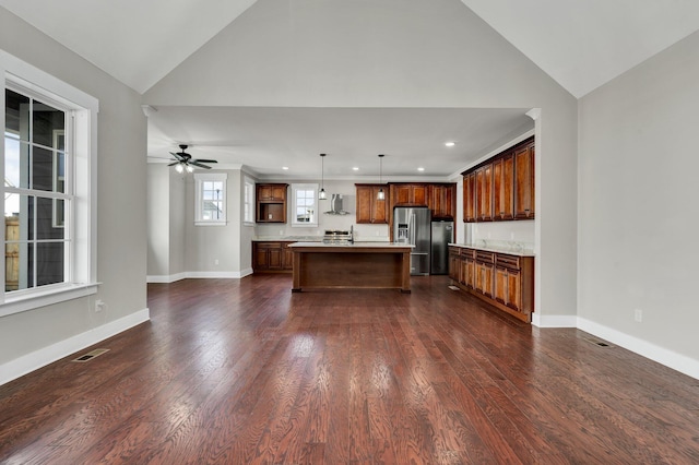
[[[426,206],[393,208],[393,240],[415,246],[411,252],[411,274],[429,274],[431,215]]]

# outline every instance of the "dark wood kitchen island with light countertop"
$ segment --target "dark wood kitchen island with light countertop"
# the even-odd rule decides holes
[[[413,246],[393,242],[296,242],[292,291],[374,288],[411,291]]]

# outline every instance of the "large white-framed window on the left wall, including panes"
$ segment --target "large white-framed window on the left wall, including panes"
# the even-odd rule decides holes
[[[0,50],[0,317],[96,291],[98,102]]]

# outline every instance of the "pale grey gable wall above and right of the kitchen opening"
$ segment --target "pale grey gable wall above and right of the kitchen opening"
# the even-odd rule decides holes
[[[144,103],[541,108],[537,315],[574,321],[577,100],[460,1],[260,0]]]

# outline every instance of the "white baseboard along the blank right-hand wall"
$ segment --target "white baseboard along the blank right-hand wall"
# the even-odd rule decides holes
[[[577,327],[699,380],[699,360],[695,360],[682,354],[656,346],[655,344],[639,339],[638,337],[630,336],[626,333],[621,333],[620,331],[613,330],[593,321],[585,320],[584,318],[578,318]]]

